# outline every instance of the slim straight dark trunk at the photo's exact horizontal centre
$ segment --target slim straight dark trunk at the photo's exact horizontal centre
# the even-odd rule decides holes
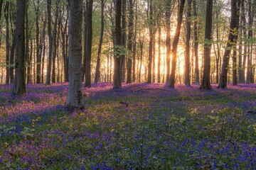
[[[129,0],[129,24],[128,24],[128,50],[130,55],[128,56],[127,62],[127,83],[132,83],[132,38],[134,29],[134,14],[133,14],[133,1]]]

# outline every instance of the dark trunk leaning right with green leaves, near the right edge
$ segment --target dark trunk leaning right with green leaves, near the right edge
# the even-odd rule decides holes
[[[227,88],[228,81],[228,64],[230,59],[231,50],[235,50],[238,40],[238,25],[239,25],[239,9],[240,0],[231,1],[231,20],[230,20],[230,30],[228,35],[228,42],[225,47],[225,52],[223,55],[223,65],[220,74],[220,82],[218,88]]]

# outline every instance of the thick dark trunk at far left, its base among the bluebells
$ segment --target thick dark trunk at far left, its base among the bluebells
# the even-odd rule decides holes
[[[25,11],[26,0],[17,0],[16,15],[16,57],[13,94],[26,94],[25,84]]]

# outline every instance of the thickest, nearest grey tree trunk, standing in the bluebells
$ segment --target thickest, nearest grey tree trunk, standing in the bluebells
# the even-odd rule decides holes
[[[70,0],[68,99],[70,108],[84,108],[82,96],[82,1]]]

